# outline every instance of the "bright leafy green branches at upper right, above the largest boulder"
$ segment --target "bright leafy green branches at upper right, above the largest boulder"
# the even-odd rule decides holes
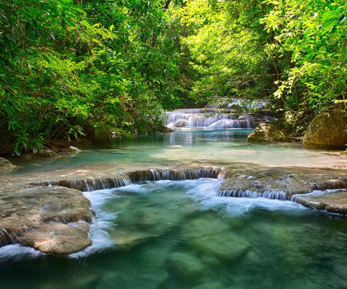
[[[314,114],[333,104],[347,109],[347,4],[342,0],[266,1],[273,5],[262,20],[275,34],[270,47],[291,64],[275,97],[296,94],[298,114]]]

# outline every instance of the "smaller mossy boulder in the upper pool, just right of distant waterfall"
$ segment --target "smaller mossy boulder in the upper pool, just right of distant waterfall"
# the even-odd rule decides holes
[[[275,125],[260,123],[247,137],[247,142],[291,142],[291,139]]]

